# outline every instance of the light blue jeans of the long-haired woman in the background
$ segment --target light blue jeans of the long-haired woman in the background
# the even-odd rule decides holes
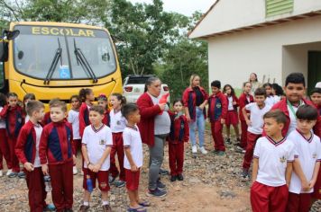
[[[204,131],[205,131],[205,119],[203,110],[197,107],[196,120],[189,122],[189,138],[192,142],[192,146],[197,145],[197,138],[195,135],[196,130],[198,130],[198,141],[199,147],[204,146]]]

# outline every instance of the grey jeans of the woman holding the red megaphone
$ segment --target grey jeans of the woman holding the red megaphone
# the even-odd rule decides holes
[[[149,172],[149,182],[148,189],[157,189],[157,181],[159,180],[159,172],[161,169],[161,164],[164,159],[164,144],[167,135],[157,135],[155,136],[154,146],[149,146],[150,149],[150,172]]]

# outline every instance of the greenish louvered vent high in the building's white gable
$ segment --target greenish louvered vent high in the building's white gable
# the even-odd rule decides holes
[[[265,15],[271,17],[293,11],[294,0],[265,0]]]

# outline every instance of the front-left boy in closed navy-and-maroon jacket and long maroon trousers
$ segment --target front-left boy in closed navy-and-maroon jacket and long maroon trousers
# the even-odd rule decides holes
[[[57,211],[71,211],[73,204],[73,173],[76,162],[72,148],[72,126],[65,120],[65,102],[50,105],[51,122],[41,133],[39,156],[44,175],[50,174],[52,201]]]

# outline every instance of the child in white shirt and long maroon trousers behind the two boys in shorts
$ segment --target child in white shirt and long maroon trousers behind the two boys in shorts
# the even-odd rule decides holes
[[[111,181],[115,181],[115,178],[119,174],[119,181],[115,182],[115,186],[121,188],[125,185],[125,172],[124,172],[124,143],[123,143],[123,131],[126,128],[126,119],[124,118],[121,109],[126,103],[126,99],[120,93],[113,93],[110,97],[110,103],[113,106],[113,110],[110,111],[110,128],[113,133],[113,147],[110,153],[110,172]],[[119,170],[115,164],[115,154],[117,153]]]

